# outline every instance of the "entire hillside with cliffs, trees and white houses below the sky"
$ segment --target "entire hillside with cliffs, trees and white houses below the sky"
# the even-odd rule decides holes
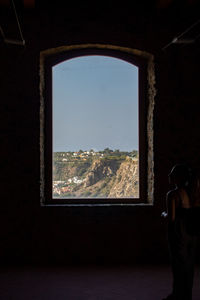
[[[111,150],[54,152],[54,198],[139,196],[138,152]]]

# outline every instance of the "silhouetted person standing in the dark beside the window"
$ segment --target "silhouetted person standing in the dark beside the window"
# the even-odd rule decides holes
[[[189,168],[175,165],[169,174],[169,182],[174,186],[166,197],[173,290],[165,299],[192,300],[195,237],[188,231],[188,215],[193,206]]]

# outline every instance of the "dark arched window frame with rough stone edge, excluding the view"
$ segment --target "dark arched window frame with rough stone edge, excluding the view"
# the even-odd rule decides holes
[[[138,67],[139,198],[52,197],[52,67],[71,58],[102,55],[122,59]],[[150,81],[151,78],[151,81]],[[153,204],[153,108],[155,82],[153,56],[135,49],[108,45],[74,45],[40,53],[40,203],[41,205]],[[150,93],[151,91],[151,93]]]

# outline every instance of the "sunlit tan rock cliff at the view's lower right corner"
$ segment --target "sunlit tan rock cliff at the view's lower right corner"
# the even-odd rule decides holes
[[[138,161],[127,158],[122,162],[110,189],[108,197],[139,197]]]

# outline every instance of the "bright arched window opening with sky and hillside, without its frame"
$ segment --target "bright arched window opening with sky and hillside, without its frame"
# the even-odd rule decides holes
[[[73,58],[52,87],[53,199],[139,198],[138,67]]]

